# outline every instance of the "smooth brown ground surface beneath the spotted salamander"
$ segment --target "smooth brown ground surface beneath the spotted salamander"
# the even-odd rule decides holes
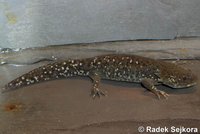
[[[200,78],[200,61],[181,62]],[[14,67],[7,70],[16,72]],[[167,127],[169,132],[183,126],[200,133],[199,83],[187,89],[159,86],[170,94],[167,100],[134,83],[102,81],[107,96],[100,99],[89,96],[89,78],[35,84],[0,94],[0,133],[134,134],[139,126]]]

